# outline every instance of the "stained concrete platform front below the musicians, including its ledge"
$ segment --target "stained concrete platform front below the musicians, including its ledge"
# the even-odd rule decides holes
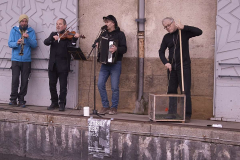
[[[110,155],[104,159],[237,160],[239,142],[238,131],[114,120],[110,126]],[[0,144],[0,156],[16,160],[100,159],[88,153],[88,122],[79,116],[1,111]]]

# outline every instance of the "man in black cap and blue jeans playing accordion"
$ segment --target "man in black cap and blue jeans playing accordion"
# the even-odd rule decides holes
[[[104,56],[103,52],[105,46],[103,45],[102,40],[109,40],[109,46],[107,50],[110,54],[116,56],[110,59],[115,59],[115,62],[102,62],[98,77],[98,90],[101,95],[103,108],[99,114],[117,114],[117,107],[119,102],[119,80],[122,67],[122,58],[123,54],[127,52],[126,37],[125,34],[120,31],[117,20],[113,15],[108,15],[103,17],[103,21],[106,25],[106,31],[102,33],[99,41],[99,56]],[[111,43],[111,44],[110,44]],[[108,53],[107,53],[108,55]],[[108,57],[108,56],[107,56]],[[102,59],[102,58],[100,58]],[[109,59],[109,58],[108,58]],[[112,105],[110,107],[107,91],[106,91],[106,82],[108,77],[111,76],[111,89],[112,89]]]

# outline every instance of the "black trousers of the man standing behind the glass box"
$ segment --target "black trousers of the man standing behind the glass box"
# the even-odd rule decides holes
[[[178,86],[180,86],[182,92],[182,80],[181,80],[181,69],[172,70],[168,72],[169,85],[168,94],[177,94]],[[192,101],[191,101],[191,67],[183,68],[184,77],[184,92],[186,95],[186,116],[191,117],[192,115]],[[177,112],[176,98],[170,98],[169,113],[173,114]]]

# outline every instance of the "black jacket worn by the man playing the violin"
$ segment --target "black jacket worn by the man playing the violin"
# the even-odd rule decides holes
[[[72,40],[64,39],[58,42],[54,40],[54,35],[57,35],[57,32],[52,32],[44,40],[45,45],[51,45],[48,70],[52,71],[55,64],[59,72],[68,72],[70,71],[71,55],[67,52],[67,48],[76,46],[77,38],[73,38]],[[72,43],[75,43],[75,45]]]

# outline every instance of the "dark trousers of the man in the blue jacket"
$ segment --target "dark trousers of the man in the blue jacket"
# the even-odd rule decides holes
[[[24,96],[27,94],[28,80],[31,73],[31,62],[18,62],[12,61],[12,91],[10,100],[17,100],[24,102]],[[21,76],[20,91],[19,87],[19,76]]]

